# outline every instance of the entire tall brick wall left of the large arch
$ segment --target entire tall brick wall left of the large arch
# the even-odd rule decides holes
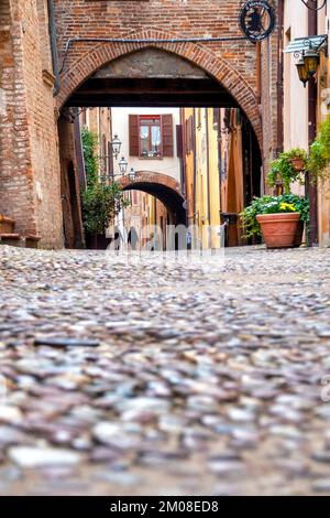
[[[41,246],[57,248],[63,244],[61,175],[46,4],[11,2],[9,25],[3,23],[9,11],[1,12],[0,211],[15,218],[18,231],[38,234]]]

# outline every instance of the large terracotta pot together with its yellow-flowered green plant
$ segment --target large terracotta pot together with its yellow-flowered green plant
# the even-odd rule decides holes
[[[304,223],[309,222],[309,202],[296,194],[263,196],[254,198],[240,217],[245,236],[262,235],[267,248],[297,247]]]

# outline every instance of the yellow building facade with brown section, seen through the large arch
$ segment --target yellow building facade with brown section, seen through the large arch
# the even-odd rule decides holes
[[[187,220],[195,247],[243,245],[239,213],[261,194],[261,157],[246,118],[237,108],[183,108],[183,162]]]

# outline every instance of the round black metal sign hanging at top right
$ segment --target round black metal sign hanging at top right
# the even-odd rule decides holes
[[[251,0],[243,6],[240,24],[243,33],[252,42],[261,42],[274,31],[276,15],[266,0]]]

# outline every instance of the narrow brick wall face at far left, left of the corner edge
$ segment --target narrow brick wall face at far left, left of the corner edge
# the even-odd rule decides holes
[[[19,7],[6,0],[0,11],[0,212],[16,219],[19,231],[35,233],[21,39]]]

